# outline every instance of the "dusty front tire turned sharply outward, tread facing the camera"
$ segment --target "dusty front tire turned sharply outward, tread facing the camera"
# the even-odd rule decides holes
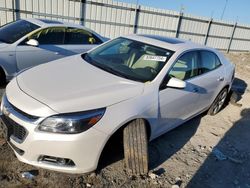
[[[146,123],[137,119],[129,123],[123,130],[123,146],[125,165],[134,175],[148,173],[148,139]]]

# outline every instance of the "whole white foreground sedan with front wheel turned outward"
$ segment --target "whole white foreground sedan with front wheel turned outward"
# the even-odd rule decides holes
[[[124,36],[17,75],[1,125],[20,161],[67,173],[95,170],[110,137],[123,131],[126,167],[143,174],[148,141],[204,111],[215,115],[233,79],[234,66],[214,49]]]

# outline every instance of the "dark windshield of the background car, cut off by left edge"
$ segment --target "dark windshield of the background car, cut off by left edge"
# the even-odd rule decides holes
[[[0,28],[0,42],[14,43],[38,28],[39,26],[25,20],[9,23]]]

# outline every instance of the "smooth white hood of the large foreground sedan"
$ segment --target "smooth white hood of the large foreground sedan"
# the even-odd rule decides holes
[[[80,55],[31,68],[16,79],[24,93],[58,113],[107,107],[141,94],[144,88],[143,83],[105,72]]]

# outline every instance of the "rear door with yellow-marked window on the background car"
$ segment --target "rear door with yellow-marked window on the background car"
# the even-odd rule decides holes
[[[87,30],[80,28],[67,28],[66,30],[65,44],[71,53],[83,53],[101,43],[101,39]]]

